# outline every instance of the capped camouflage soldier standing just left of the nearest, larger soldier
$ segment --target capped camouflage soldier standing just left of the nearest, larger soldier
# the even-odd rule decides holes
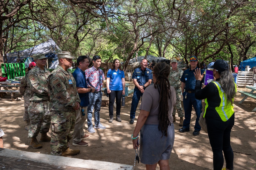
[[[46,65],[46,57],[44,54],[35,54],[33,58],[36,62],[34,69],[30,70],[26,76],[26,82],[30,91],[28,114],[30,118],[30,126],[28,130],[28,138],[31,138],[30,146],[32,148],[42,148],[37,142],[37,135],[40,132],[40,142],[50,142],[47,136],[50,128],[50,112],[49,112],[49,94],[47,87],[47,78],[50,72],[44,68]]]

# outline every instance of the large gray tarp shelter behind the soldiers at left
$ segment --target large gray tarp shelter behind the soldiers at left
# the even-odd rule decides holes
[[[60,51],[62,51],[62,50],[60,50],[60,48],[57,46],[57,44],[52,39],[50,39],[46,42],[36,45],[35,47],[6,54],[7,55],[7,63],[16,63],[17,58],[19,58],[19,57],[21,60],[23,60],[24,58],[27,58],[27,57],[32,56],[33,54],[37,54],[37,53],[45,54],[46,57],[54,58],[57,56],[56,53],[58,53]],[[52,56],[52,55],[54,55],[54,56]]]

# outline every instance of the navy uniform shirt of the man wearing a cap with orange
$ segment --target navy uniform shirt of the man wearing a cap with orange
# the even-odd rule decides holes
[[[196,67],[196,69],[199,69],[199,68]],[[195,87],[196,87],[196,78],[194,75],[195,70],[191,70],[191,68],[185,70],[180,78],[180,81],[185,83],[185,90],[187,90],[187,91],[195,90]],[[204,71],[201,70],[201,74],[203,74],[203,73],[204,73]],[[203,81],[204,81],[204,76],[203,76],[201,83],[203,83]]]

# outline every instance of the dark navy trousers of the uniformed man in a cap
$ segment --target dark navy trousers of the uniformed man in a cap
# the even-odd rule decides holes
[[[195,130],[201,130],[201,127],[198,123],[199,117],[202,110],[202,100],[197,100],[195,97],[195,93],[187,93],[187,99],[185,99],[186,91],[182,93],[183,95],[183,106],[184,106],[184,116],[185,119],[183,121],[183,127],[186,129],[189,129],[190,120],[191,120],[191,111],[192,111],[192,105],[196,111],[196,124],[194,126]]]

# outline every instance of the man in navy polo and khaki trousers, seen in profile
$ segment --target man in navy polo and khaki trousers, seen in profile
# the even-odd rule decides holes
[[[88,66],[88,55],[79,56],[77,59],[77,68],[73,73],[76,80],[76,89],[81,100],[80,107],[76,111],[76,124],[73,134],[74,146],[87,146],[88,143],[83,140],[90,137],[90,135],[84,132],[84,124],[87,118],[87,106],[89,104],[88,92],[94,92],[95,88],[88,88],[86,84],[85,70],[88,69]]]

